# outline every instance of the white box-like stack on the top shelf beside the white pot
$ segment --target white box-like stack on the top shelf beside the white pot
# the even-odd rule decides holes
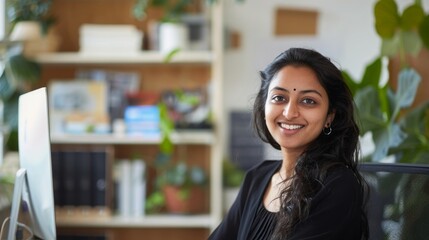
[[[137,53],[143,33],[133,25],[83,24],[79,29],[81,53]]]

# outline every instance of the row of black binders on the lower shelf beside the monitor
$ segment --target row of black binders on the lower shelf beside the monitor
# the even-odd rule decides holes
[[[113,150],[110,147],[63,147],[52,150],[56,212],[110,215]]]

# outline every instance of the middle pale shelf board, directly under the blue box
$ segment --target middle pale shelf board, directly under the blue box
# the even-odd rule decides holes
[[[176,144],[210,145],[214,142],[213,132],[204,130],[177,131],[172,134]],[[52,134],[51,142],[55,144],[159,144],[159,138],[114,134]]]

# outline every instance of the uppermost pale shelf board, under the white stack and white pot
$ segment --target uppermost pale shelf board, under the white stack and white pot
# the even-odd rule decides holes
[[[161,64],[166,55],[158,51],[136,53],[81,53],[57,52],[38,55],[35,60],[41,64]],[[170,63],[210,64],[211,51],[178,52]]]

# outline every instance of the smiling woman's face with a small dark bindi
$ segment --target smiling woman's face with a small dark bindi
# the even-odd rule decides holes
[[[311,68],[285,66],[268,88],[265,122],[282,149],[302,153],[333,121],[328,107],[328,94]]]

